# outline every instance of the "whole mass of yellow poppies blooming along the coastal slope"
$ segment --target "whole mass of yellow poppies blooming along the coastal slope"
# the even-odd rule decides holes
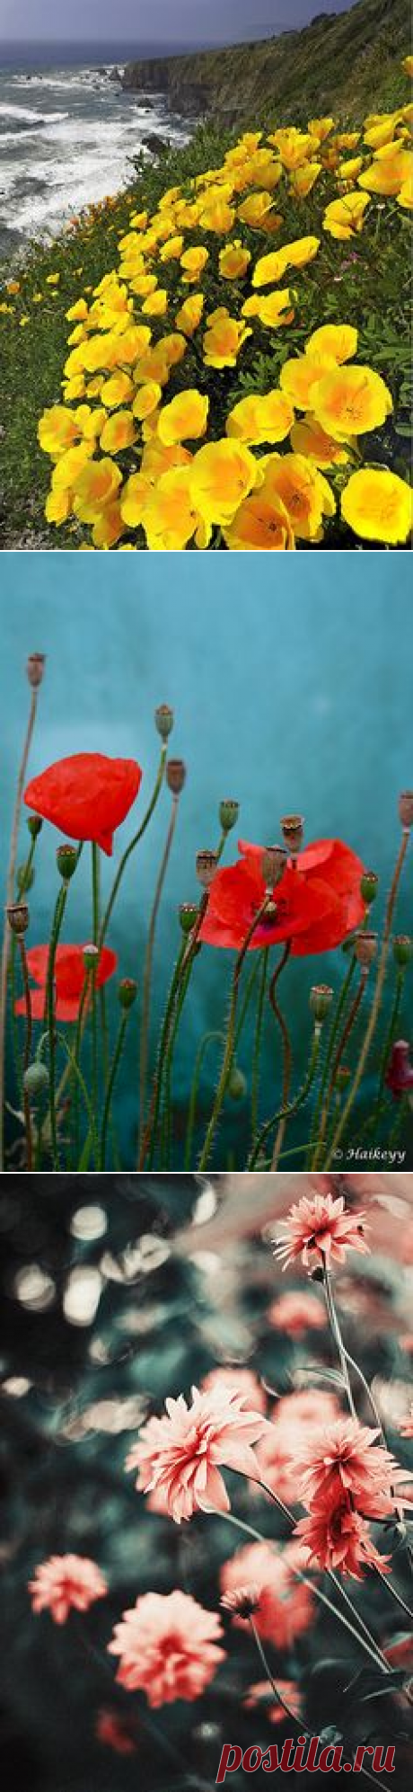
[[[386,421],[392,394],[354,358],[350,323],[315,330],[270,391],[232,409],[227,394],[245,342],[259,330],[261,346],[265,330],[270,349],[272,332],[291,324],[291,281],[320,253],[316,235],[272,246],[282,226],[275,194],[302,201],[320,181],[322,229],[338,240],[363,229],[375,194],[406,210],[409,118],[402,106],[368,116],[363,131],[311,118],[308,131],[245,133],[218,170],[168,188],[156,213],[131,204],[118,267],[66,314],[63,403],[39,421],[54,462],[50,523],[89,527],[82,545],[95,548],[207,548],[216,532],[227,548],[293,548],[320,541],[340,504],[358,536],[406,541],[408,484],[359,464],[358,437]],[[254,253],[256,235],[266,253]],[[229,290],[231,303],[216,303]]]

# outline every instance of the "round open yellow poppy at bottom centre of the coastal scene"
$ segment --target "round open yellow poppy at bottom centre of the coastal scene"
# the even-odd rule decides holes
[[[257,461],[243,443],[206,443],[193,457],[191,495],[197,511],[209,523],[231,523],[256,482]]]

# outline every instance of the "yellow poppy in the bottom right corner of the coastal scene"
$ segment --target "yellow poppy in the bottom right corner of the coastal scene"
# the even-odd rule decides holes
[[[341,495],[341,514],[365,541],[386,541],[397,547],[411,530],[411,489],[399,473],[390,473],[386,468],[359,468]]]

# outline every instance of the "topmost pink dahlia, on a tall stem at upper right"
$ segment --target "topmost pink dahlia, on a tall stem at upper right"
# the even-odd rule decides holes
[[[274,1256],[279,1263],[284,1258],[282,1269],[299,1256],[306,1269],[313,1258],[343,1263],[345,1251],[368,1251],[363,1238],[363,1213],[345,1213],[343,1195],[338,1195],[336,1201],[329,1192],[302,1195],[302,1201],[286,1215],[286,1233],[275,1240]]]

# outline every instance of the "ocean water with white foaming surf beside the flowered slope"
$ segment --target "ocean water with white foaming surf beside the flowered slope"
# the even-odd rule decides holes
[[[107,57],[97,45],[0,50],[2,256],[125,186],[148,133],[188,142],[191,122],[173,116],[163,95],[123,93],[113,70],[125,61],[125,45],[120,59],[113,45]]]

